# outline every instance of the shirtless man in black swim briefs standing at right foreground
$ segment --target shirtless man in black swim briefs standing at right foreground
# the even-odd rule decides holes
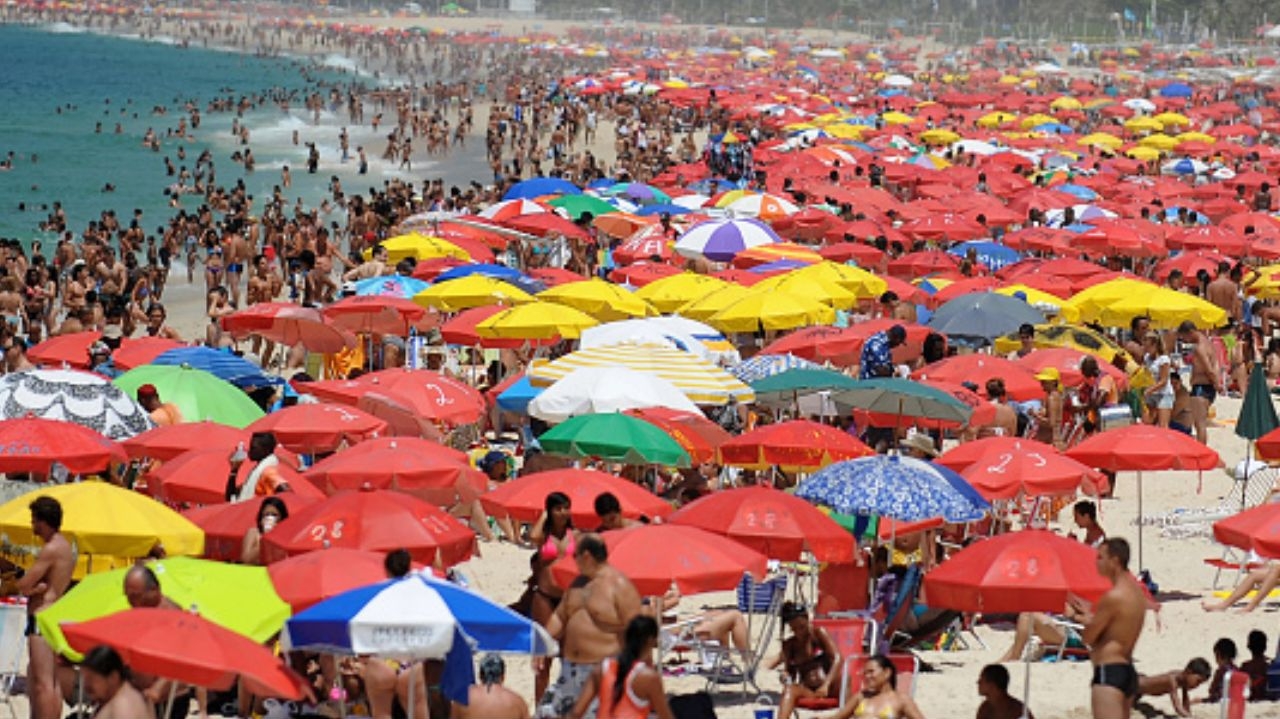
[[[1138,670],[1133,667],[1133,647],[1142,635],[1147,597],[1129,573],[1129,542],[1111,537],[1098,546],[1098,573],[1111,582],[1091,612],[1073,596],[1066,618],[1084,624],[1080,638],[1089,647],[1093,663],[1093,719],[1128,719],[1138,697]]]

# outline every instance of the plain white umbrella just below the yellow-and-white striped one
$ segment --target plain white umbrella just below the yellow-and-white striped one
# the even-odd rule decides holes
[[[582,367],[556,380],[527,406],[530,416],[552,425],[581,415],[666,407],[698,412],[671,381],[627,367]]]

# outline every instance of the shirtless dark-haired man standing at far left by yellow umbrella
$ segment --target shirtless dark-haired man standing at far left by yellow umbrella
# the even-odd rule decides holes
[[[31,531],[44,546],[36,563],[18,580],[18,592],[27,596],[27,649],[31,654],[27,682],[32,719],[58,719],[63,715],[54,650],[36,632],[36,614],[63,596],[76,568],[72,545],[59,531],[61,526],[63,505],[56,499],[37,496],[31,503]]]

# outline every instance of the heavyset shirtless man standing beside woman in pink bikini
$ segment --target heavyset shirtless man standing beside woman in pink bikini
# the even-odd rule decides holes
[[[640,592],[608,563],[599,535],[582,535],[573,551],[579,577],[552,614],[547,631],[561,642],[561,676],[538,704],[541,719],[573,709],[591,670],[622,650],[627,622],[640,613]],[[595,716],[594,707],[588,716]]]

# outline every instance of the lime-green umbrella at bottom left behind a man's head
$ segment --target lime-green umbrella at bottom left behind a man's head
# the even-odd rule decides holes
[[[160,580],[160,591],[184,610],[238,635],[265,642],[289,618],[289,605],[275,592],[266,567],[225,564],[207,559],[174,557],[147,563]],[[36,615],[40,636],[58,654],[79,661],[67,645],[60,624],[88,622],[129,608],[124,597],[124,574],[115,569],[88,574],[52,606]]]

